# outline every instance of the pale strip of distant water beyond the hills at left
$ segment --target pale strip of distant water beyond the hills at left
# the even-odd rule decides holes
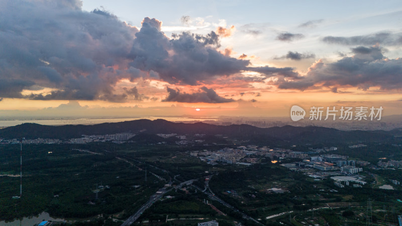
[[[0,129],[6,127],[17,126],[23,123],[36,123],[48,126],[62,126],[62,125],[94,125],[100,123],[119,123],[125,121],[133,121],[140,119],[156,120],[164,119],[170,122],[198,122],[198,121],[216,121],[215,117],[211,118],[186,118],[186,117],[141,117],[141,118],[102,118],[102,119],[16,119],[16,120],[0,120]]]

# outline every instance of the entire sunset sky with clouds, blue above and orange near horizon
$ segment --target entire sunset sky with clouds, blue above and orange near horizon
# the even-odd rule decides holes
[[[400,0],[3,0],[0,117],[400,115],[401,47]]]

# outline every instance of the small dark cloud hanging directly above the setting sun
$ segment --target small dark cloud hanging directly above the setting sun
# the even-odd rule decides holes
[[[198,92],[194,93],[186,93],[181,92],[178,89],[172,89],[167,87],[167,92],[169,95],[166,99],[162,101],[175,101],[175,102],[186,102],[186,103],[196,103],[196,102],[205,102],[205,103],[227,103],[233,102],[234,99],[224,98],[219,96],[214,89],[209,89],[207,87],[202,87]]]

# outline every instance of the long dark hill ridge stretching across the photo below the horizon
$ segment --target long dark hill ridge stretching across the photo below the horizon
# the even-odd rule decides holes
[[[400,135],[400,130],[393,131],[341,131],[324,127],[271,127],[258,128],[250,125],[217,126],[206,123],[172,123],[166,120],[135,120],[120,123],[103,123],[97,125],[65,125],[44,126],[25,123],[0,130],[4,139],[22,138],[53,138],[70,139],[82,135],[104,135],[130,132],[134,134],[178,134],[178,135],[224,135],[241,140],[284,140],[293,142],[367,142],[393,139]],[[133,140],[141,137],[133,138]],[[156,137],[144,137],[145,140],[161,142]],[[159,141],[160,140],[160,141]]]

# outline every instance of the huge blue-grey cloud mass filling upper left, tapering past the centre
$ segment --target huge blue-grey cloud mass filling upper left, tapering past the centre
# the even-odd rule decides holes
[[[116,84],[140,77],[208,84],[250,63],[220,53],[215,32],[168,38],[156,19],[145,18],[138,30],[102,9],[89,13],[81,6],[78,0],[0,3],[0,98],[143,99]],[[21,94],[34,87],[51,91]]]

